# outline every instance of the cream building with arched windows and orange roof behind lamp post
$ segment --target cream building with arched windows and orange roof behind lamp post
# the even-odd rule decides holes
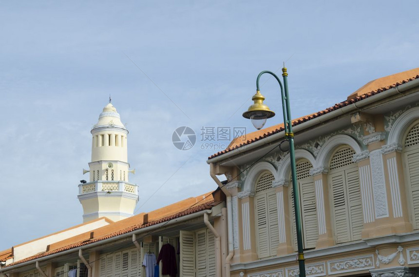
[[[419,68],[369,82],[294,120],[293,131],[306,275],[416,276]],[[232,218],[231,276],[298,276],[289,153],[278,148],[284,139],[276,125],[208,160]]]

